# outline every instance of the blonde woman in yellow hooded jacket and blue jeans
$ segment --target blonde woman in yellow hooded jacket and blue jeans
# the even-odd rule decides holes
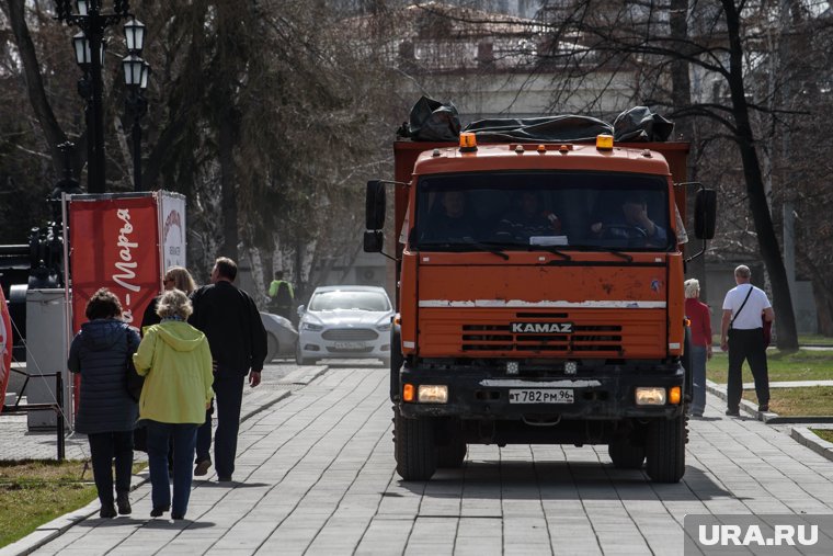
[[[214,390],[212,352],[205,334],[186,322],[193,308],[179,290],[159,299],[159,325],[148,327],[133,361],[145,376],[139,398],[139,421],[148,428],[151,518],[171,509],[168,476],[169,439],[173,438],[173,509],[171,518],[181,520],[187,510],[193,478],[197,428],[205,422],[205,410]]]

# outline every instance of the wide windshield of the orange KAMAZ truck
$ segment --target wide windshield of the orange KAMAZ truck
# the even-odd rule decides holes
[[[669,185],[635,173],[481,172],[423,177],[411,246],[422,250],[666,251]],[[482,248],[482,247],[481,247]]]

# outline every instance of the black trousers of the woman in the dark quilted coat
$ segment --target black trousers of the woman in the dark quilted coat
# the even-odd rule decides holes
[[[92,475],[102,506],[113,504],[113,459],[116,461],[116,492],[130,491],[133,431],[88,434]]]

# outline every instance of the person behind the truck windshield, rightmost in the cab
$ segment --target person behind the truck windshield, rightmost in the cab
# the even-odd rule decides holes
[[[667,243],[667,231],[648,216],[648,196],[641,191],[625,194],[618,209],[591,224],[600,239],[627,240],[632,246],[660,247]]]

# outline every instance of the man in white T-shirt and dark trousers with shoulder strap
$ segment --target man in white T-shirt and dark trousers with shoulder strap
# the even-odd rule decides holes
[[[729,377],[726,387],[726,415],[740,415],[743,361],[749,361],[755,379],[758,411],[769,410],[769,375],[766,367],[763,320],[775,320],[775,313],[763,290],[750,283],[752,272],[741,264],[734,269],[738,285],[726,294],[723,320],[720,330],[720,349],[729,352]],[[762,320],[763,314],[763,320]]]

